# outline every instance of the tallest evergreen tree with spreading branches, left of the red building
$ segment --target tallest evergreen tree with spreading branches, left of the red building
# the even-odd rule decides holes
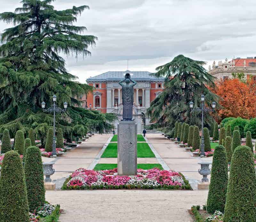
[[[60,107],[68,103],[67,112],[56,116],[56,126],[66,138],[75,129],[102,133],[113,128],[109,122],[116,118],[114,114],[75,108],[80,105],[77,98],[92,88],[75,81],[77,77],[68,73],[60,56],[91,54],[88,47],[95,45],[97,37],[83,35],[86,27],[73,25],[89,7],[58,11],[52,1],[23,0],[14,12],[0,13],[0,20],[14,25],[4,31],[0,46],[0,132],[7,128],[11,137],[19,129],[27,133],[32,127],[45,139],[53,118],[42,112],[41,103],[52,105],[53,94]]]

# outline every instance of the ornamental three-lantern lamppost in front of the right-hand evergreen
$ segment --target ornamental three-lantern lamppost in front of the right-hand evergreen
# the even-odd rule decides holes
[[[194,103],[191,101],[189,103],[189,107],[190,109],[192,109],[194,106]],[[196,109],[194,109],[193,111],[201,111],[202,112],[202,136],[201,136],[201,146],[200,146],[200,157],[204,157],[205,153],[204,153],[204,112],[214,112],[216,107],[216,103],[213,102],[212,103],[212,110],[204,107],[204,95],[201,96],[201,107],[197,107]]]

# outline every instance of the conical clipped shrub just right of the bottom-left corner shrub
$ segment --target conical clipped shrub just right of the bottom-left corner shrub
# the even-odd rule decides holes
[[[28,206],[33,211],[44,205],[44,171],[41,152],[36,146],[27,149],[25,160],[25,178],[28,190]]]

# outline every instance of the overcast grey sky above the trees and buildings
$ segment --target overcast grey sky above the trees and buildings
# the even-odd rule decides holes
[[[1,12],[20,0],[0,0]],[[184,54],[208,62],[256,56],[255,0],[56,0],[56,9],[89,5],[76,25],[98,37],[91,57],[66,58],[80,82],[107,71],[154,72]],[[7,26],[0,22],[0,30]]]

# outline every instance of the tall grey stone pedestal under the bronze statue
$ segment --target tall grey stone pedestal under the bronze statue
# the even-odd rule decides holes
[[[117,125],[117,173],[137,174],[137,124],[120,121]]]

